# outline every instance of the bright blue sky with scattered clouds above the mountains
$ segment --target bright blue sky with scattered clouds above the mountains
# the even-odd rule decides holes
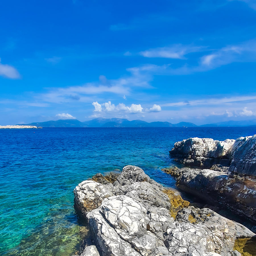
[[[256,119],[256,1],[1,3],[0,125]]]

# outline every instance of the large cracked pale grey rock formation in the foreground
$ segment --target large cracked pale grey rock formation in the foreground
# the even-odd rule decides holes
[[[125,166],[113,183],[80,183],[74,190],[74,206],[87,219],[99,255],[239,256],[233,251],[236,238],[255,235],[241,224],[208,208],[190,207],[186,201],[174,219],[169,200],[173,194],[165,190],[136,166]]]

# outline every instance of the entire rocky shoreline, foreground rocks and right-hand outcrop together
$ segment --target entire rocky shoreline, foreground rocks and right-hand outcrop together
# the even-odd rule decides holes
[[[189,166],[162,169],[176,177],[178,188],[256,224],[256,135],[190,138],[175,143],[170,154]],[[82,256],[256,255],[251,230],[214,210],[194,207],[137,166],[125,166],[121,174],[96,174],[77,185],[74,197],[92,236],[83,241]]]

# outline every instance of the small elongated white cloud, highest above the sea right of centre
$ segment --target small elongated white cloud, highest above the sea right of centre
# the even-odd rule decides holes
[[[140,55],[148,58],[169,58],[169,59],[185,59],[184,55],[192,52],[202,51],[205,47],[197,46],[183,46],[181,44],[170,47],[161,47],[141,51]]]

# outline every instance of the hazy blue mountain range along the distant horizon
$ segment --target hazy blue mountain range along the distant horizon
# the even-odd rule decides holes
[[[151,122],[148,123],[142,120],[129,121],[123,118],[95,118],[90,121],[80,122],[77,119],[60,119],[57,121],[46,121],[38,123],[20,124],[20,125],[35,125],[37,127],[240,127],[251,126],[256,127],[256,120],[248,121],[226,121],[205,125],[195,125],[189,122],[180,122],[172,124],[169,122]]]

